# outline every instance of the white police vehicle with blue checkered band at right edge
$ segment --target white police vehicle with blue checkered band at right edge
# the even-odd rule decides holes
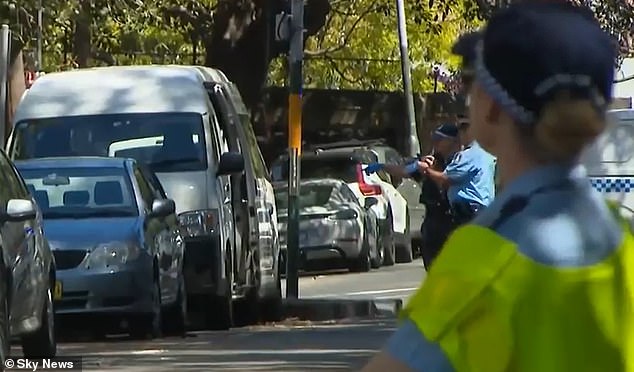
[[[582,155],[592,185],[634,218],[634,109],[608,112],[608,126]]]

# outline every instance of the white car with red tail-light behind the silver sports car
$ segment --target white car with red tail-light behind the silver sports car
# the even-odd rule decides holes
[[[275,181],[287,179],[288,156],[282,155],[272,165]],[[411,262],[412,247],[409,237],[407,202],[389,184],[385,172],[367,175],[363,169],[376,162],[376,155],[359,147],[339,147],[338,144],[314,145],[302,154],[302,179],[335,178],[348,183],[363,205],[368,196],[376,197],[378,203],[372,210],[381,221],[385,264]]]

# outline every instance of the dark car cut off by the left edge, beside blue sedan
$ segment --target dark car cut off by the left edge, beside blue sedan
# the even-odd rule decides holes
[[[0,151],[0,355],[18,337],[27,358],[57,353],[53,300],[59,297],[55,260],[42,213],[24,180]]]

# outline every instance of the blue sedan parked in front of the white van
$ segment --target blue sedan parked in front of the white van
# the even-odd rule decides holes
[[[128,320],[133,337],[184,334],[184,244],[174,201],[132,159],[17,163],[42,209],[57,262],[58,315]],[[104,324],[96,323],[96,324]]]

